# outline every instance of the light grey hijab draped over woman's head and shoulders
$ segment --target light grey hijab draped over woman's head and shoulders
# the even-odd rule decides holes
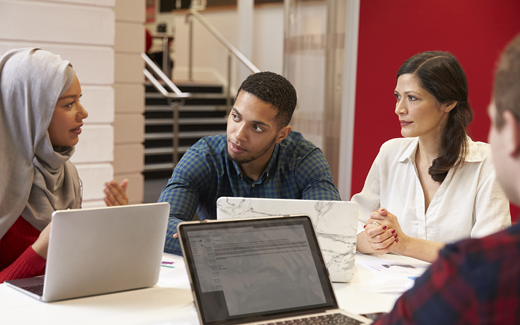
[[[21,215],[38,230],[55,210],[78,208],[74,147],[55,147],[47,128],[74,80],[69,61],[40,48],[0,58],[0,238]]]

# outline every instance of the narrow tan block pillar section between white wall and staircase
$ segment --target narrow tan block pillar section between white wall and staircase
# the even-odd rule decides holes
[[[128,178],[130,203],[141,203],[145,166],[145,64],[141,58],[145,48],[145,0],[116,0],[114,10],[114,178]]]

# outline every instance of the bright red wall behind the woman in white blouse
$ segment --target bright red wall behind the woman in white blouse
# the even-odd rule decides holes
[[[450,51],[466,72],[475,112],[469,134],[486,141],[492,74],[520,31],[520,1],[369,0],[360,2],[352,193],[361,191],[384,141],[400,137],[394,113],[396,72],[425,50]],[[519,210],[512,206],[513,220]]]

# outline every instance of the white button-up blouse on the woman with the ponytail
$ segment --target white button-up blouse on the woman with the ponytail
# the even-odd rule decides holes
[[[352,197],[359,204],[358,235],[380,207],[397,216],[406,235],[436,242],[484,237],[511,226],[509,200],[495,175],[491,146],[467,140],[464,162],[448,172],[426,213],[415,165],[419,138],[385,142],[363,190]]]

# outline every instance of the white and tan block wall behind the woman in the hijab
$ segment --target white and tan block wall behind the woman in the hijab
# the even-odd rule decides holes
[[[84,207],[105,205],[103,183],[112,177],[129,178],[131,202],[142,201],[144,89],[136,44],[144,47],[144,11],[144,0],[0,0],[0,55],[42,47],[70,60],[80,79],[89,117],[71,160],[83,180]]]

